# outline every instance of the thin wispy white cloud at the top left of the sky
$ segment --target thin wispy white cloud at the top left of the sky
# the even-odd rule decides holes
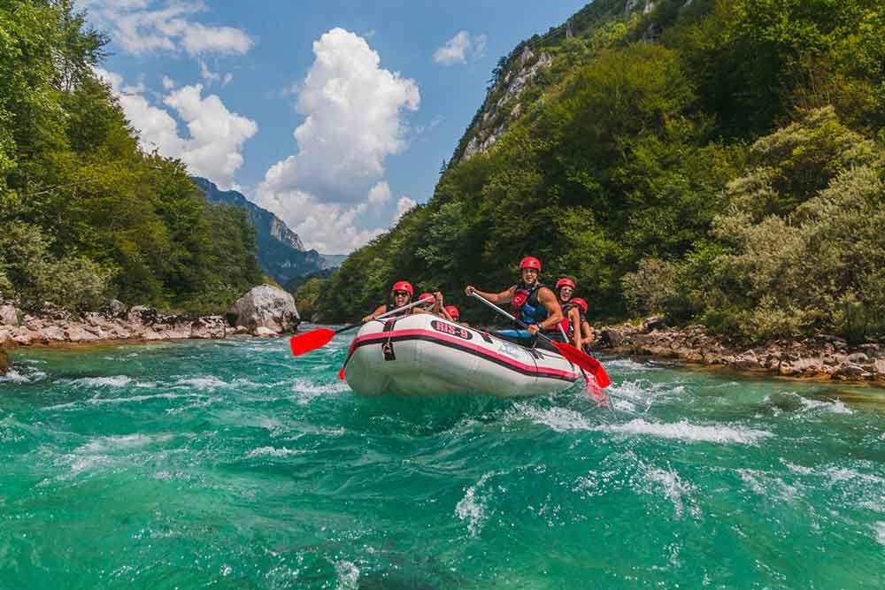
[[[89,17],[107,30],[124,52],[154,51],[242,55],[254,41],[235,27],[211,27],[196,20],[208,10],[201,0],[83,0]]]

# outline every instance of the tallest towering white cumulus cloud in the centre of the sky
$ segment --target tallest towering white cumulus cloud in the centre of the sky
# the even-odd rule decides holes
[[[382,68],[366,39],[350,31],[333,28],[313,52],[304,80],[286,92],[296,91],[304,116],[293,133],[297,152],[270,166],[255,201],[309,247],[350,252],[383,231],[357,226],[393,199],[384,161],[405,148],[405,117],[418,109],[420,94],[414,80]]]

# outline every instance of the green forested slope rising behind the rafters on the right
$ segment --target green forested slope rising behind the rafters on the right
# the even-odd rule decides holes
[[[407,279],[484,320],[463,287],[508,287],[531,254],[543,280],[577,278],[596,323],[663,313],[740,341],[885,336],[885,5],[652,5],[596,0],[571,35],[503,57],[430,200],[299,303],[353,319]],[[495,111],[526,48],[550,65]],[[504,119],[491,149],[463,157]]]

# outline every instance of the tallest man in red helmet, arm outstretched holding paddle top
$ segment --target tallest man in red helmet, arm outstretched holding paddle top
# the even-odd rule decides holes
[[[538,281],[541,261],[535,257],[525,257],[519,261],[519,272],[522,274],[519,284],[500,293],[487,293],[472,285],[465,287],[464,292],[467,296],[475,292],[497,305],[510,303],[513,315],[527,324],[532,336],[541,331],[556,330],[557,324],[562,321],[562,309],[556,294]]]

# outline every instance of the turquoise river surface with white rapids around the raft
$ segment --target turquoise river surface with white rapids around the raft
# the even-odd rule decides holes
[[[369,399],[349,342],[16,351],[0,587],[885,586],[881,389],[603,358],[615,411]]]

